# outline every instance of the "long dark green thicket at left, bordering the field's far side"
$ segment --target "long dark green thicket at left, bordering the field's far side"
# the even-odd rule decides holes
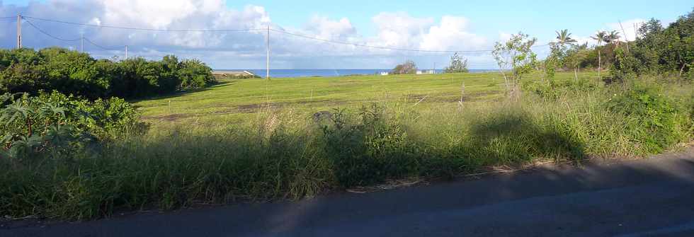
[[[62,48],[0,50],[0,93],[59,91],[89,99],[141,98],[214,83],[198,60],[142,58],[114,62]]]

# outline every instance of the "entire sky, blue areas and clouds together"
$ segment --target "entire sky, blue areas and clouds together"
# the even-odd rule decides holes
[[[269,25],[273,29],[273,69],[388,69],[405,60],[413,60],[420,68],[440,68],[448,64],[452,52],[428,51],[490,50],[495,42],[519,31],[537,37],[537,45],[551,42],[554,32],[561,29],[569,29],[572,37],[589,44],[594,43],[590,35],[597,30],[620,30],[625,40],[633,40],[635,24],[649,18],[671,23],[693,7],[691,1],[679,0],[352,0],[348,4],[300,0],[0,0],[0,47],[16,47],[16,17],[1,17],[21,13],[27,17],[22,21],[24,47],[79,50],[80,40],[75,39],[84,35],[89,40],[84,42],[84,51],[98,58],[122,59],[124,45],[128,45],[129,57],[160,59],[176,54],[182,59],[201,59],[215,69],[263,69],[267,32],[115,29],[38,18],[157,30],[241,30]],[[547,47],[533,50],[540,57],[548,51]],[[489,52],[461,54],[468,59],[470,69],[496,68]]]

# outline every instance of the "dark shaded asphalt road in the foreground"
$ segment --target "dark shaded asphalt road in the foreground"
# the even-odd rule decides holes
[[[694,236],[694,150],[302,202],[15,226],[0,236]]]

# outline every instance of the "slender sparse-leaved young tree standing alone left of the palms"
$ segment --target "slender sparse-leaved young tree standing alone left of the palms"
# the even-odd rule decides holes
[[[506,91],[511,92],[512,96],[520,93],[520,80],[533,71],[537,64],[537,54],[531,49],[536,41],[534,37],[531,39],[529,35],[519,32],[517,35],[511,35],[508,41],[496,42],[494,45],[491,54],[499,64],[499,72],[504,76]],[[509,70],[511,75],[506,75],[506,71]]]

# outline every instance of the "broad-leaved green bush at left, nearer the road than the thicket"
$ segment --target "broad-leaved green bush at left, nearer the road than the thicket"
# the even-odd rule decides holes
[[[147,129],[135,108],[120,98],[90,102],[54,91],[35,97],[6,93],[0,102],[4,156],[58,156]]]

